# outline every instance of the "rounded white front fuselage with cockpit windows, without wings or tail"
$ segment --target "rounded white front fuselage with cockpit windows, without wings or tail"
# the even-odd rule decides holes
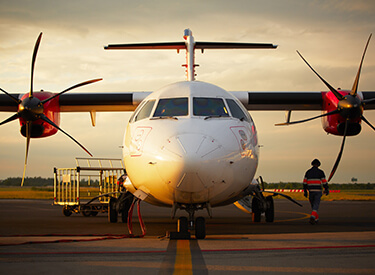
[[[178,82],[149,95],[129,121],[126,188],[156,205],[231,203],[250,185],[258,151],[255,125],[234,96]]]

